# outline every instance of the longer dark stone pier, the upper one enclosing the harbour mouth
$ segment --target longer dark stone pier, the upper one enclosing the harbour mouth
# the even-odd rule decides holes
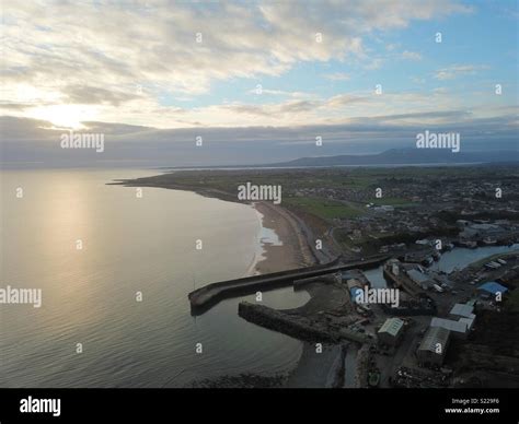
[[[224,298],[253,294],[256,291],[268,291],[290,286],[295,280],[319,276],[331,272],[355,268],[370,269],[378,267],[387,259],[389,259],[388,256],[376,256],[344,262],[343,259],[338,257],[328,263],[211,283],[188,294],[192,315],[201,315]]]

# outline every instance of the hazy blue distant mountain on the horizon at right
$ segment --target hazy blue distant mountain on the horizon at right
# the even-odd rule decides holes
[[[434,149],[391,149],[369,155],[301,157],[272,166],[416,165],[519,162],[519,151],[458,152]]]

